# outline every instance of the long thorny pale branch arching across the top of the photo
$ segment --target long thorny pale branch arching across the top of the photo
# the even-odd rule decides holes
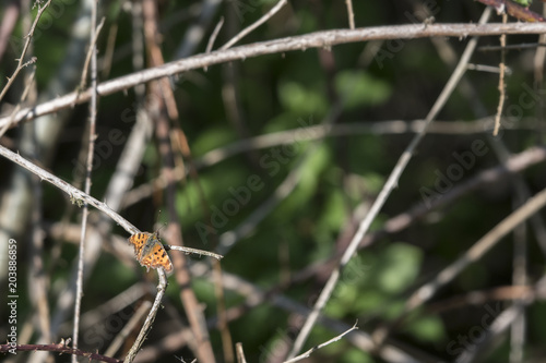
[[[226,63],[263,55],[282,53],[286,51],[329,48],[347,43],[360,43],[379,39],[415,39],[424,37],[464,37],[464,36],[492,36],[500,34],[542,34],[546,33],[544,23],[509,23],[509,24],[423,24],[377,26],[367,28],[336,29],[317,32],[301,36],[293,36],[270,41],[257,43],[248,46],[236,47],[222,51],[213,51],[209,55],[198,55],[181,60],[165,63],[162,66],[149,68],[134,72],[98,85],[100,96],[110,95],[116,92],[132,88],[139,84],[157,80],[165,76],[182,73],[186,71],[211,66],[213,64]],[[78,93],[58,97],[54,100],[37,105],[34,108],[25,108],[17,112],[14,122],[33,120],[37,117],[57,112],[71,107]],[[78,102],[82,104],[90,99],[91,90],[82,92]],[[9,122],[10,118],[0,118],[0,126]]]

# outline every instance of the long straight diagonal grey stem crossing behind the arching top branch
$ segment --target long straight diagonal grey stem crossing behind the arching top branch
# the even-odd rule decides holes
[[[487,22],[491,13],[490,8],[486,8],[484,13],[482,14],[482,17],[479,20],[479,24],[484,24]],[[314,306],[312,308],[311,314],[308,316],[306,319],[301,330],[299,331],[298,337],[296,338],[296,341],[293,344],[293,349],[288,355],[288,358],[294,358],[296,356],[297,352],[301,350],[301,347],[304,343],[307,341],[307,338],[309,337],[309,334],[311,332],[312,327],[317,323],[317,319],[325,306],[327,302],[329,301],[339,279],[341,276],[342,269],[347,265],[347,263],[351,261],[353,255],[355,254],[356,250],[358,249],[358,245],[360,243],[360,240],[364,238],[364,235],[368,232],[369,227],[371,226],[371,222],[376,218],[376,216],[379,214],[381,210],[383,204],[387,202],[387,198],[391,194],[391,192],[394,190],[394,187],[397,185],[400,176],[404,171],[405,167],[410,162],[410,159],[412,158],[415,149],[417,148],[417,145],[422,141],[422,138],[425,136],[427,132],[427,126],[432,122],[432,120],[437,117],[437,114],[440,112],[440,110],[443,108],[446,105],[449,96],[451,93],[455,89],[456,84],[461,80],[461,77],[464,74],[464,71],[466,69],[466,64],[470,61],[470,58],[472,53],[474,52],[474,49],[476,48],[477,45],[477,37],[472,38],[467,46],[466,49],[464,50],[461,60],[453,71],[451,77],[449,78],[448,83],[446,84],[443,90],[441,92],[440,96],[436,100],[435,105],[430,109],[429,113],[427,114],[426,124],[420,131],[420,133],[416,134],[410,145],[406,147],[402,156],[400,157],[399,161],[396,162],[396,166],[392,170],[391,174],[389,176],[389,179],[384,183],[383,187],[381,189],[381,192],[379,193],[377,199],[373,202],[373,205],[371,206],[369,213],[366,215],[366,218],[360,222],[358,226],[358,231],[355,233],[353,237],[351,243],[348,244],[347,249],[345,250],[339,265],[336,268],[333,270],[332,275],[328,279],[323,290],[321,291],[317,302],[314,303]]]

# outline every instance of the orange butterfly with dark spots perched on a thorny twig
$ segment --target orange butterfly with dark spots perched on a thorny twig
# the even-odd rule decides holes
[[[145,266],[150,271],[150,267],[163,267],[165,271],[173,271],[173,263],[165,247],[159,242],[157,232],[135,233],[129,238],[129,243],[134,247],[134,255],[141,266]]]

